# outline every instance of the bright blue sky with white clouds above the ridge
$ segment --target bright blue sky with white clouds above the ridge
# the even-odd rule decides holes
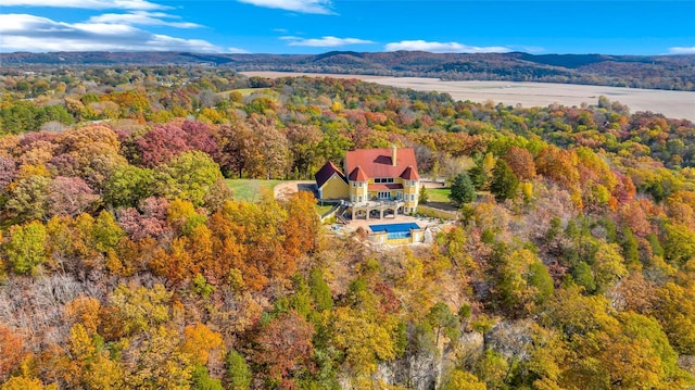
[[[0,51],[695,54],[695,0],[0,0]]]

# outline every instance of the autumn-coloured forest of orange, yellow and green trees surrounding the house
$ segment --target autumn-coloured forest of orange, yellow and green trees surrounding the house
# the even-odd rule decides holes
[[[1,389],[695,386],[691,122],[208,67],[1,80]],[[433,243],[224,181],[391,144],[478,191]]]

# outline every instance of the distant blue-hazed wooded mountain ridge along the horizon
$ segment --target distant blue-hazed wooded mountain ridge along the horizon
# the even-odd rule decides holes
[[[0,53],[2,66],[214,65],[236,71],[317,72],[451,80],[509,80],[695,90],[695,55],[430,53],[208,54],[191,52]]]

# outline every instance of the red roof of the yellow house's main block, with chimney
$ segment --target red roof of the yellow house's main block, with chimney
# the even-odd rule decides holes
[[[396,149],[396,161],[393,165],[392,149],[357,149],[349,151],[345,155],[345,172],[352,172],[361,167],[367,177],[403,177],[406,180],[418,180],[417,161],[413,148]],[[407,176],[404,177],[403,175]],[[366,181],[366,179],[362,180]]]

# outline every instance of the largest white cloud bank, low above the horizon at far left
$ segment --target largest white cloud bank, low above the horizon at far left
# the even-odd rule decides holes
[[[29,14],[0,14],[0,36],[2,51],[223,51],[206,40],[152,34],[126,24],[71,24]]]

